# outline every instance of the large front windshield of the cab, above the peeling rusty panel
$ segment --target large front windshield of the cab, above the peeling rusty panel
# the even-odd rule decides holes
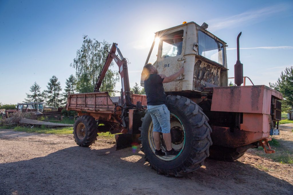
[[[224,47],[209,35],[198,31],[198,51],[199,55],[223,65]]]

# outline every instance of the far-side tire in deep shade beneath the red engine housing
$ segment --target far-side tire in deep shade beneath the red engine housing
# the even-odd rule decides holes
[[[223,146],[211,146],[209,148],[209,158],[218,160],[233,162],[244,155],[246,148],[227,148]]]

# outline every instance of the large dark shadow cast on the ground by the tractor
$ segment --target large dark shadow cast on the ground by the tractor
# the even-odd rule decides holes
[[[0,194],[290,194],[293,186],[239,161],[207,159],[187,177],[158,175],[132,149],[69,147],[0,164]]]

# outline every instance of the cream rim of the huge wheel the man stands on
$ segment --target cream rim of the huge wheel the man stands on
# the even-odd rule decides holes
[[[172,139],[172,148],[180,151],[177,156],[158,156],[158,158],[164,160],[164,161],[171,161],[175,158],[178,158],[180,154],[182,153],[185,145],[185,128],[183,126],[182,121],[179,119],[179,117],[173,113],[170,112],[170,124],[171,124],[171,139]],[[148,128],[148,140],[149,140],[149,146],[153,153],[155,154],[156,146],[153,138],[153,122],[151,121]],[[163,136],[161,134],[161,150],[166,153],[166,145],[163,141]]]

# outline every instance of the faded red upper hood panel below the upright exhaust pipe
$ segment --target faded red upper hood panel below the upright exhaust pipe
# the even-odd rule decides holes
[[[282,99],[265,85],[213,87],[211,111],[270,114],[272,94]]]

